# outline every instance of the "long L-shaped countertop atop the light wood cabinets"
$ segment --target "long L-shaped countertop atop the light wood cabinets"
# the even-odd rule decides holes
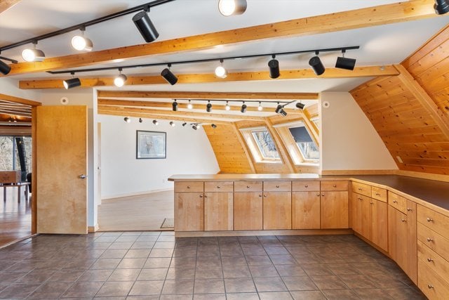
[[[205,174],[173,175],[169,181],[277,181],[277,180],[358,180],[383,185],[436,207],[449,210],[449,183],[398,175],[344,175],[318,174]]]

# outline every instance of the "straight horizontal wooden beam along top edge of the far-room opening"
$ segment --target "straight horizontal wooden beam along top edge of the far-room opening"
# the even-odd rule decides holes
[[[238,100],[318,100],[319,93],[247,93],[210,91],[98,91],[98,98],[170,98]]]

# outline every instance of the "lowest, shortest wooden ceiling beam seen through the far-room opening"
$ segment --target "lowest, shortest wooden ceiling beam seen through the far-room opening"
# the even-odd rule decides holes
[[[138,113],[147,113],[151,115],[165,115],[165,116],[179,116],[179,117],[192,117],[192,118],[212,118],[215,119],[232,119],[232,120],[253,120],[260,121],[263,117],[253,117],[248,115],[223,115],[223,114],[215,114],[215,113],[203,113],[203,112],[184,112],[177,111],[173,112],[173,110],[154,110],[140,107],[117,107],[117,106],[107,106],[107,105],[98,105],[98,110],[101,111],[110,111],[110,112],[138,112]]]

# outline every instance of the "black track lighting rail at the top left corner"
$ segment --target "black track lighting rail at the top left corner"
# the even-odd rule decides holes
[[[161,4],[166,4],[166,3],[171,2],[171,1],[175,1],[175,0],[154,0],[154,1],[148,2],[147,4],[142,4],[140,6],[135,6],[133,8],[128,8],[128,9],[126,9],[124,11],[118,11],[116,13],[111,13],[110,15],[105,15],[104,17],[96,18],[94,20],[83,22],[81,24],[73,25],[73,26],[64,28],[62,30],[56,30],[54,32],[49,32],[47,34],[42,34],[39,37],[33,37],[31,39],[25,39],[23,41],[18,41],[17,43],[14,43],[14,44],[10,44],[10,45],[6,45],[6,46],[3,46],[3,47],[0,47],[0,52],[4,51],[4,50],[11,49],[11,48],[16,48],[18,46],[26,45],[26,44],[33,44],[36,41],[41,41],[43,39],[56,37],[56,36],[58,36],[60,34],[65,34],[67,32],[72,32],[72,31],[75,31],[75,30],[79,30],[81,28],[86,28],[88,26],[95,25],[95,24],[98,24],[98,23],[101,23],[101,22],[105,22],[105,21],[108,21],[108,20],[112,20],[114,18],[119,18],[122,15],[128,15],[130,13],[135,13],[136,11],[148,11],[148,9],[150,7],[159,6]]]

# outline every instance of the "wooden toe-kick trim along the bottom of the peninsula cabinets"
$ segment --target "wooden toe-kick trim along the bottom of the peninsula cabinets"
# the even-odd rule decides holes
[[[239,231],[176,231],[175,237],[244,237],[262,235],[351,235],[352,229],[293,229]]]

